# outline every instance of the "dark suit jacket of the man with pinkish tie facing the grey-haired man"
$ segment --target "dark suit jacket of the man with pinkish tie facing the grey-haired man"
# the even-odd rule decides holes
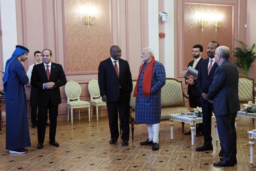
[[[204,100],[204,98],[201,96],[202,93],[207,94],[209,87],[212,85],[213,76],[215,74],[215,70],[218,67],[218,64],[214,62],[212,69],[208,76],[208,63],[209,58],[204,59],[201,61],[199,70],[198,70],[198,78],[197,78],[197,85],[198,85],[198,91],[200,93],[200,102],[205,103],[208,102],[208,100]]]

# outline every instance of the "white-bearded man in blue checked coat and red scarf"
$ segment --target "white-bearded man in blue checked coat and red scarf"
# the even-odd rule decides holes
[[[152,150],[159,149],[159,129],[161,117],[161,88],[166,82],[163,64],[154,59],[151,48],[144,48],[134,97],[136,97],[135,122],[146,123],[148,140],[140,145],[153,144]]]

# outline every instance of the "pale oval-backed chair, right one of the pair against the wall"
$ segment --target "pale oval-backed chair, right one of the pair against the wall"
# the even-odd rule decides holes
[[[106,106],[106,102],[102,101],[99,93],[99,84],[98,80],[92,79],[88,84],[88,90],[90,93],[90,105],[91,105],[91,118],[93,118],[93,106],[96,107],[96,116],[97,121],[99,120],[98,116],[98,107],[101,109],[101,117],[102,117],[102,106]]]

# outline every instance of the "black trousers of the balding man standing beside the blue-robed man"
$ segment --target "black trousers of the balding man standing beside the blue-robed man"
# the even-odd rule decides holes
[[[38,143],[44,143],[47,114],[49,109],[49,140],[54,142],[57,127],[58,105],[53,105],[49,99],[47,106],[38,106]]]

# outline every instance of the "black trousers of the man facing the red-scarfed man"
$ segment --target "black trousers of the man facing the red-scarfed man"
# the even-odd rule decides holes
[[[122,140],[129,140],[130,136],[130,99],[128,99],[125,94],[120,89],[118,101],[111,101],[107,103],[108,109],[108,121],[109,129],[111,133],[111,138],[118,139],[118,113],[121,122],[122,129]],[[118,112],[117,112],[118,111]]]

